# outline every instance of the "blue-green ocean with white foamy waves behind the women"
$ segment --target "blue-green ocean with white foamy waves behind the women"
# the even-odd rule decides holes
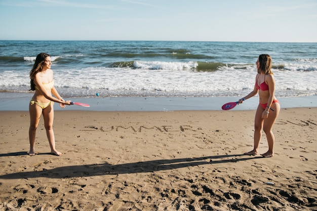
[[[255,62],[272,56],[275,96],[317,94],[317,43],[0,40],[0,92],[30,93],[38,53],[51,55],[55,88],[66,98],[243,97]]]

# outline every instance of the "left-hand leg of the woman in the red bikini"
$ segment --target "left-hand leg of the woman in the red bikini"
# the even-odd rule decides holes
[[[262,137],[262,126],[263,126],[263,119],[262,119],[262,113],[264,109],[258,105],[258,108],[255,113],[255,118],[254,118],[254,146],[253,150],[250,152],[244,153],[245,155],[254,155],[258,154],[258,149],[259,149],[259,143],[261,141]]]

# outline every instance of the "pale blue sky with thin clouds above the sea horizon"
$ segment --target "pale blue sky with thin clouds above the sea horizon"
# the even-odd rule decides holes
[[[317,43],[317,0],[0,0],[0,40]]]

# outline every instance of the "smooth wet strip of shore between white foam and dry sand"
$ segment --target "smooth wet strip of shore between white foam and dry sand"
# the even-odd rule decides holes
[[[27,111],[33,93],[0,92],[0,110]],[[90,105],[66,106],[65,109],[55,104],[55,110],[86,110],[86,111],[175,111],[175,110],[221,110],[227,102],[235,102],[237,97],[89,97],[69,98],[73,102]],[[69,100],[65,98],[65,100]],[[302,97],[278,97],[281,108],[317,107],[317,95]],[[248,99],[234,110],[256,110],[258,96]]]

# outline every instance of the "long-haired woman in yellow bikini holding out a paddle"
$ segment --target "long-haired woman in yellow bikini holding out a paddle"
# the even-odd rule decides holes
[[[53,132],[54,120],[54,102],[60,103],[62,108],[70,105],[71,101],[64,101],[54,87],[53,71],[51,70],[51,57],[49,54],[41,53],[36,56],[33,68],[30,71],[31,90],[35,91],[29,104],[30,128],[29,141],[30,156],[35,155],[35,133],[43,114],[44,125],[47,138],[50,143],[51,153],[61,155],[62,153],[55,149],[55,137]],[[55,97],[53,97],[53,95]]]

